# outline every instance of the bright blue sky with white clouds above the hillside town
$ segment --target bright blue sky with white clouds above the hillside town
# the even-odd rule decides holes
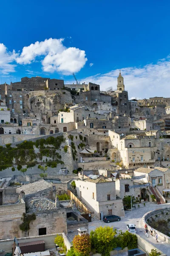
[[[121,69],[129,98],[170,97],[170,1],[8,0],[0,10],[0,83],[74,82],[74,72],[104,90]]]

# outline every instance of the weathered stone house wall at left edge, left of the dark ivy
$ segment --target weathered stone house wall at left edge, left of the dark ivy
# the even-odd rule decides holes
[[[15,236],[23,236],[19,228],[23,212],[26,212],[23,199],[20,204],[0,206],[0,239],[14,239]]]

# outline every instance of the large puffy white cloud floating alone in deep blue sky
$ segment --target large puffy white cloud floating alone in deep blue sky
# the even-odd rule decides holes
[[[85,51],[75,47],[67,48],[63,45],[63,40],[63,38],[50,38],[23,47],[16,61],[19,64],[30,64],[37,57],[42,57],[42,70],[45,72],[57,71],[64,75],[76,73],[84,67],[87,61]]]

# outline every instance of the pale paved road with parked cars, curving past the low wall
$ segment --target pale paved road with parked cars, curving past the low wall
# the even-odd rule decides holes
[[[141,236],[142,238],[146,239],[148,242],[153,244],[156,248],[161,250],[163,253],[166,253],[167,256],[170,256],[170,245],[165,243],[164,241],[160,241],[158,237],[159,243],[156,242],[155,237],[150,236],[150,232],[148,234],[148,238],[145,237],[145,232],[144,232],[144,227],[142,224],[142,217],[146,212],[149,212],[151,210],[154,210],[156,208],[164,208],[164,207],[170,207],[170,204],[162,204],[162,205],[157,205],[157,204],[150,204],[147,203],[146,207],[140,207],[139,209],[133,210],[133,212],[126,212],[125,217],[121,218],[121,221],[116,221],[116,222],[110,222],[110,223],[105,223],[103,221],[97,221],[97,222],[90,222],[89,223],[89,233],[91,230],[95,230],[96,227],[104,227],[104,226],[110,226],[113,228],[116,228],[118,230],[126,231],[126,225],[128,223],[135,224],[136,225],[136,230],[137,234]]]

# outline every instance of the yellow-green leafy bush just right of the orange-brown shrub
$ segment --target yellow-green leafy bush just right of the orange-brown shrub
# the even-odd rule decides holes
[[[116,247],[116,230],[112,227],[97,227],[91,231],[91,247],[102,256],[110,256],[110,251]]]

